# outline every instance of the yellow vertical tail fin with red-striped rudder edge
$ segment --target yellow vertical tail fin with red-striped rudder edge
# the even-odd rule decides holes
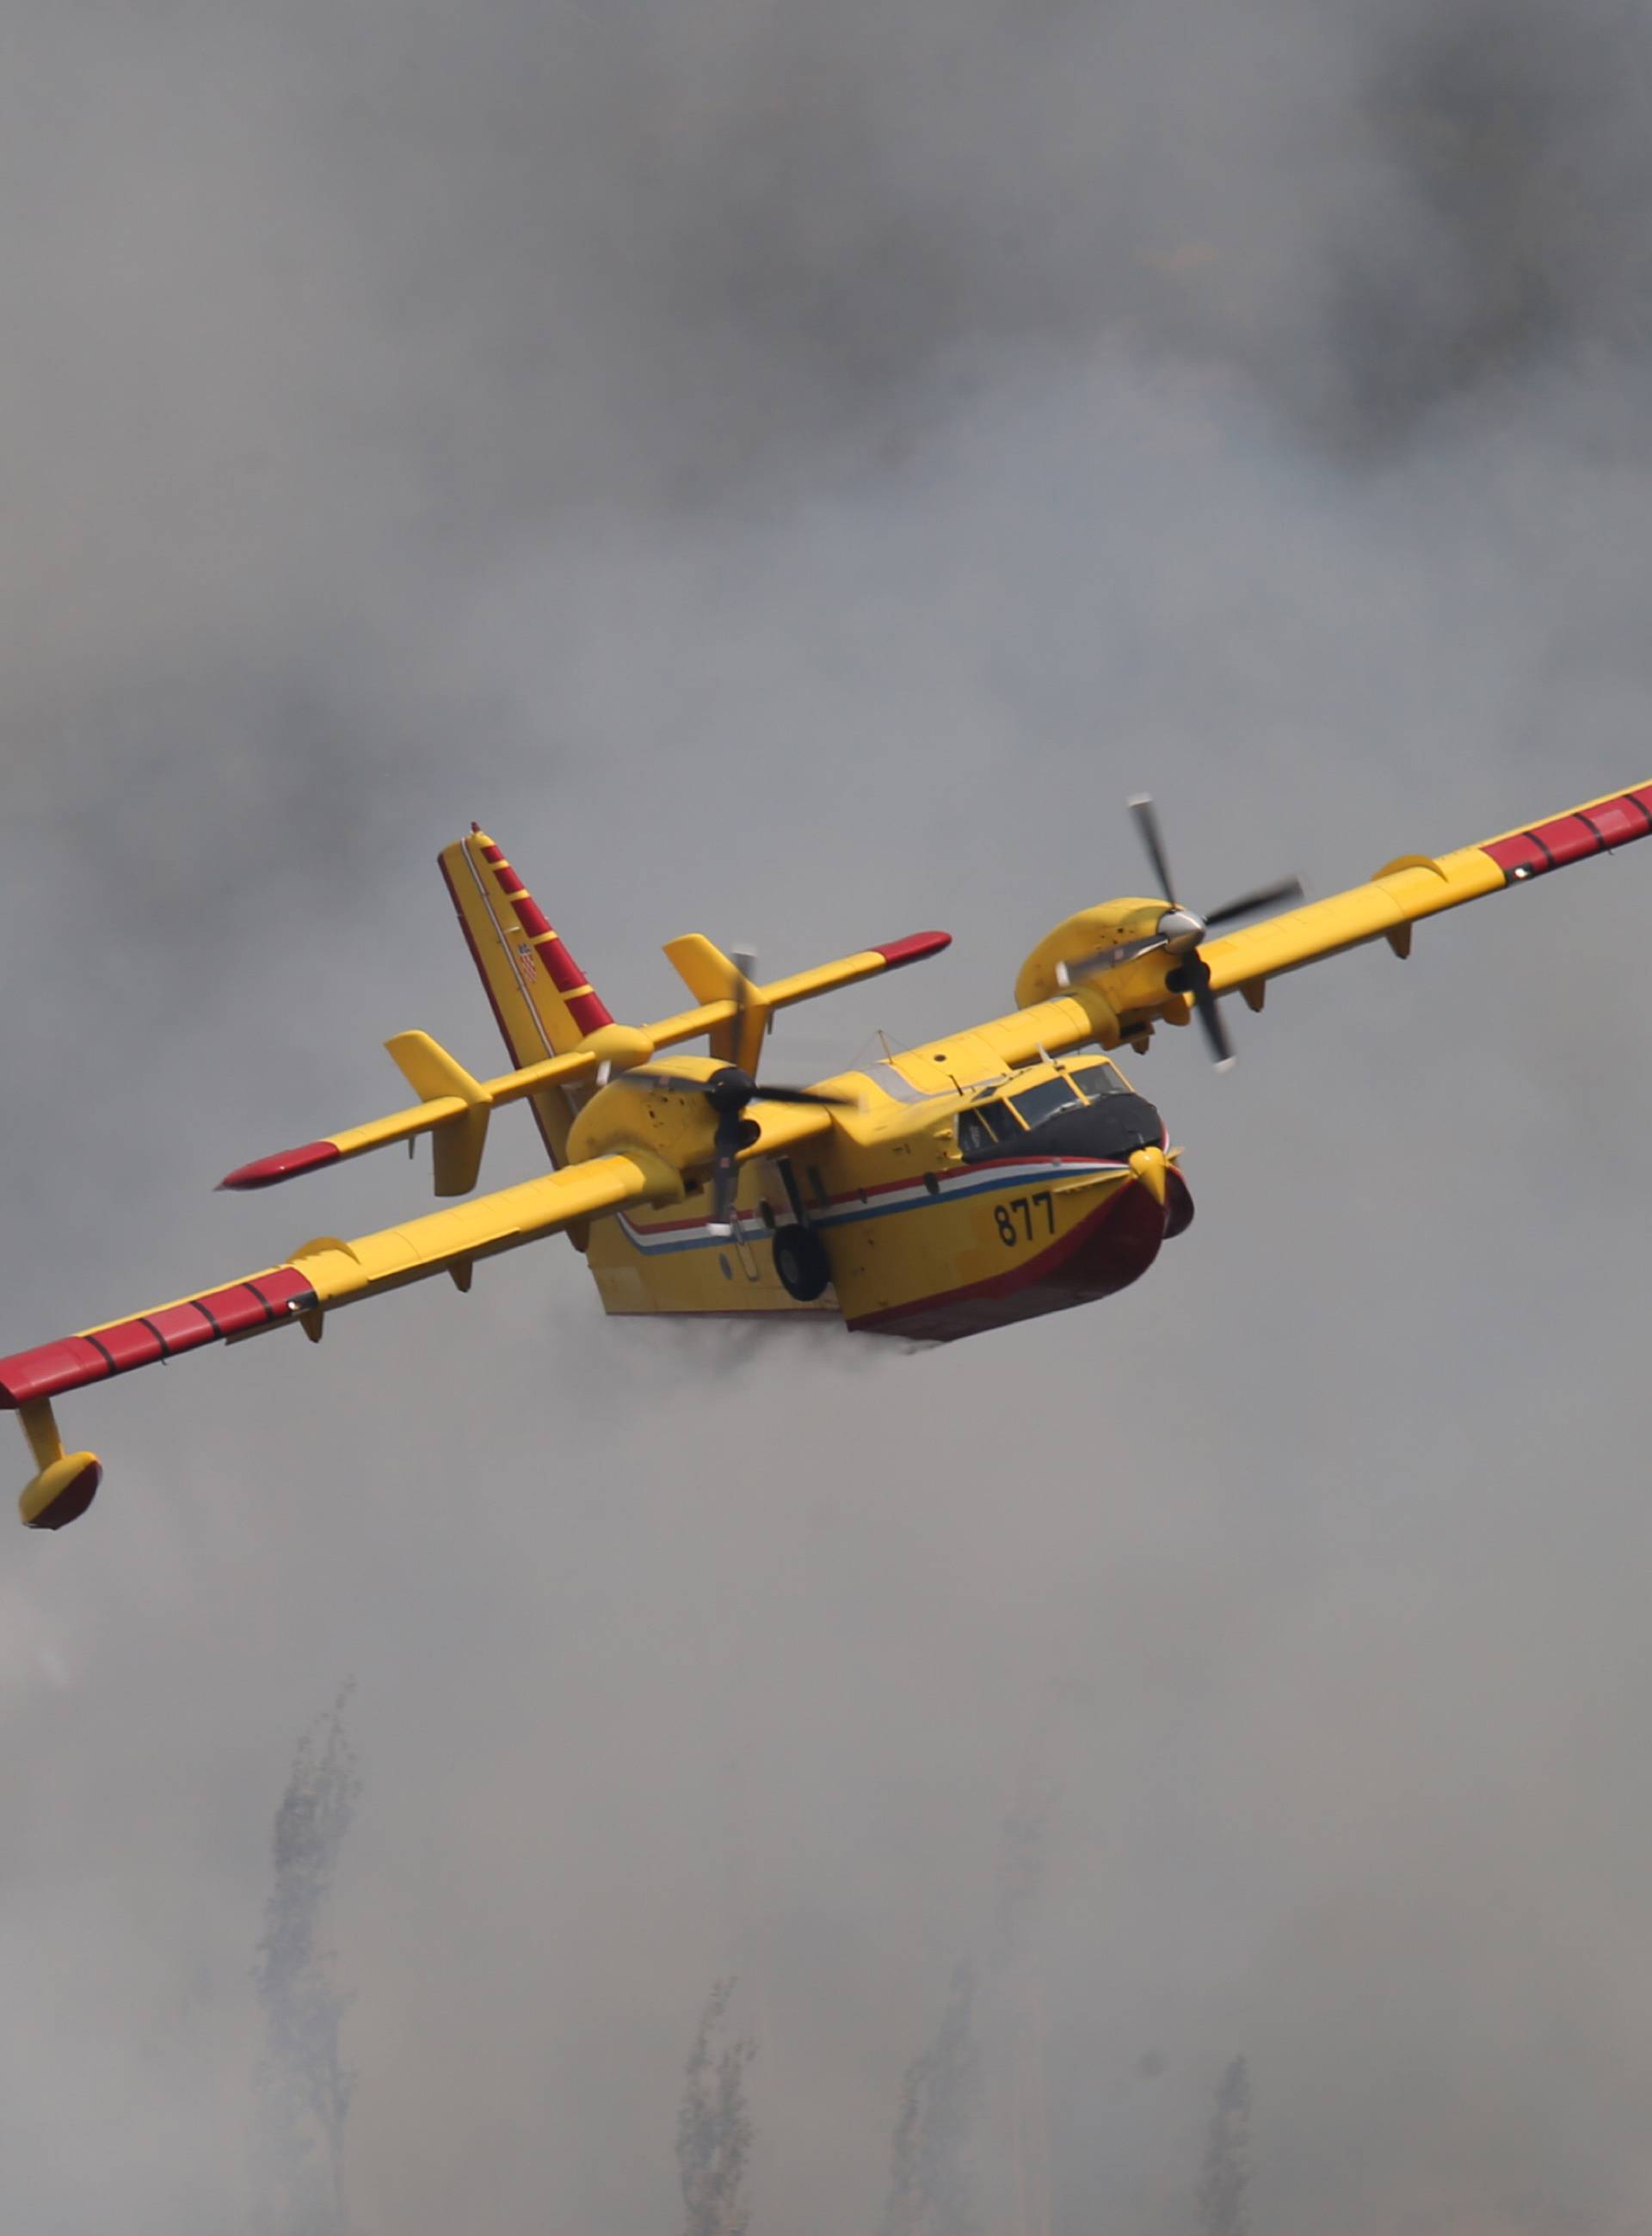
[[[470,839],[443,847],[439,861],[517,1069],[566,1055],[586,1033],[613,1024],[533,894],[479,825],[470,827]],[[551,1163],[560,1165],[573,1102],[560,1087],[546,1087],[533,1096],[533,1116]]]

